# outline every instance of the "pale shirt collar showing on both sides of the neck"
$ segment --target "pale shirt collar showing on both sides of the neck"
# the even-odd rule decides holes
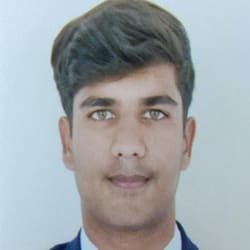
[[[89,240],[84,229],[81,230],[81,249],[82,250],[98,250],[96,246]],[[164,250],[181,250],[181,234],[175,224],[174,237],[171,239],[169,244],[164,248]]]

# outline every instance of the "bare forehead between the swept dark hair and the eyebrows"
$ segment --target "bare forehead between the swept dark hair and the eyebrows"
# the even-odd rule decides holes
[[[90,96],[107,97],[114,99],[117,103],[132,104],[143,98],[160,95],[168,95],[177,103],[181,103],[173,65],[154,65],[119,79],[85,86],[75,95],[74,106],[79,106]]]

